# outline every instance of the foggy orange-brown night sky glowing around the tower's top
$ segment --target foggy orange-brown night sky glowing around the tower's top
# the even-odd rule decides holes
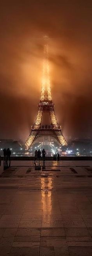
[[[92,1],[0,3],[0,138],[27,139],[40,100],[43,35],[64,136],[92,137]]]

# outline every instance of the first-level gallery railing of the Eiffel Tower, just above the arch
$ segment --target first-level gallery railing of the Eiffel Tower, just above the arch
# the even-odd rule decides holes
[[[32,125],[32,130],[42,129],[42,130],[58,130],[61,129],[60,125]]]

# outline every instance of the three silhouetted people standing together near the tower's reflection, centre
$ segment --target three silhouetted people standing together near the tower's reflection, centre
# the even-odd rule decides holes
[[[42,158],[43,158],[43,163],[45,163],[45,155],[46,155],[46,151],[42,150]],[[35,150],[35,157],[34,157],[34,164],[36,165],[36,163],[40,164],[40,160],[41,160],[41,151],[40,149],[37,151],[37,149]]]

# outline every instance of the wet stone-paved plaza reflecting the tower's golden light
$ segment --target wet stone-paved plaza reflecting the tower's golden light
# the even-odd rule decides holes
[[[42,162],[41,162],[42,165]],[[1,256],[92,255],[92,161],[0,167]]]

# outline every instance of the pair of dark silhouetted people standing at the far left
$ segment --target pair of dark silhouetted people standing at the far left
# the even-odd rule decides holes
[[[4,167],[10,167],[11,166],[11,150],[9,148],[4,148]],[[9,161],[9,165],[8,165]]]

